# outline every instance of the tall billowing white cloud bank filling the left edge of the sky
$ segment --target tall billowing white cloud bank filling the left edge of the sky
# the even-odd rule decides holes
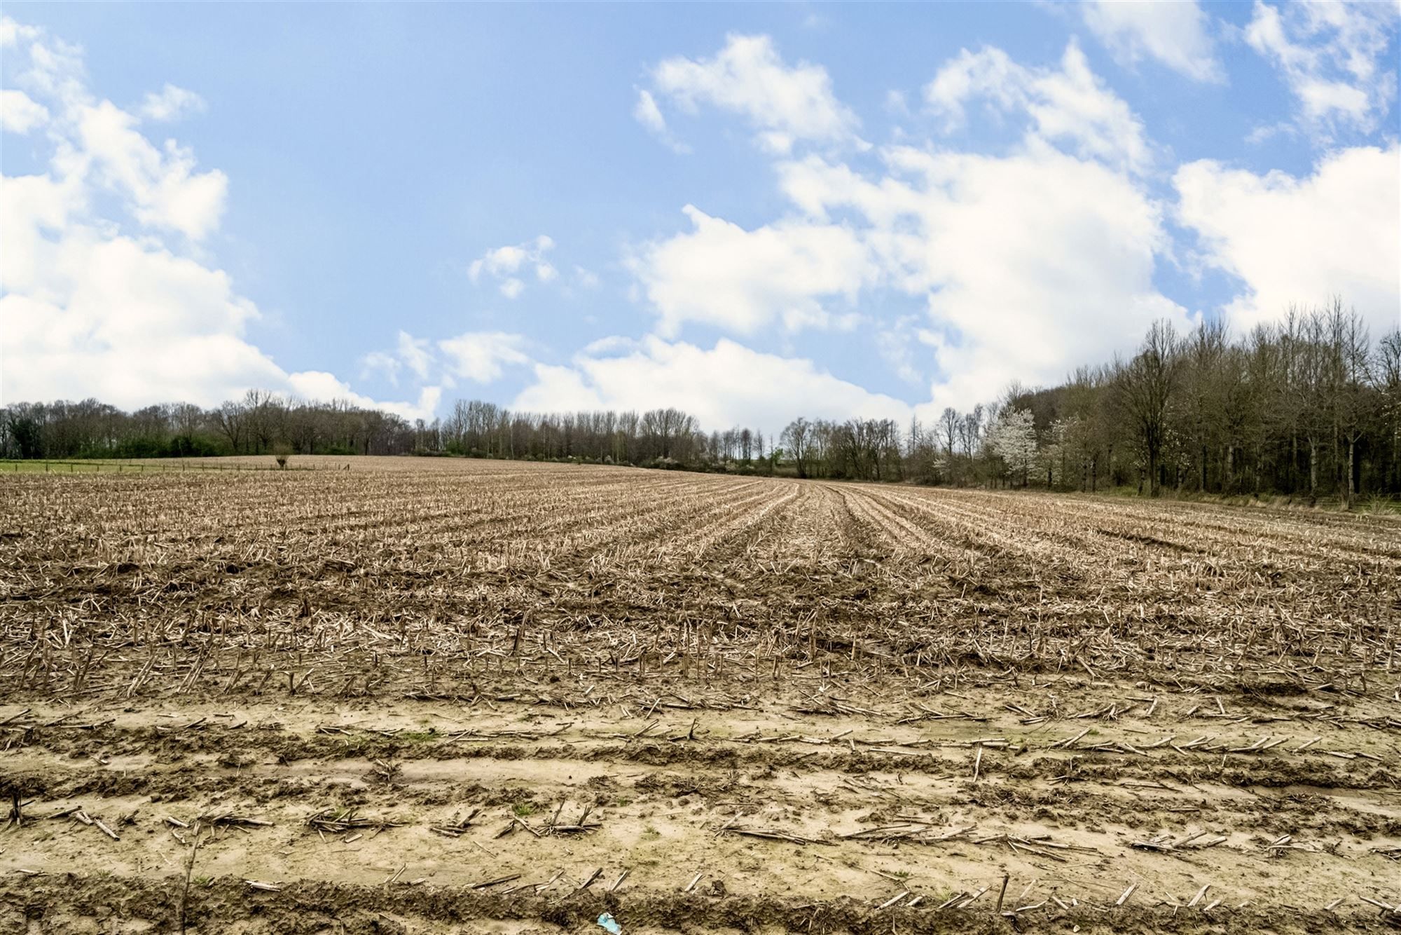
[[[137,115],[88,88],[76,46],[13,20],[0,45],[7,84],[48,114],[49,147],[42,174],[0,179],[0,401],[213,405],[263,388],[371,402],[331,374],[279,367],[247,339],[256,306],[189,255],[219,226],[223,172],[147,140]],[[122,210],[98,213],[104,192]],[[432,395],[387,407],[422,414]]]

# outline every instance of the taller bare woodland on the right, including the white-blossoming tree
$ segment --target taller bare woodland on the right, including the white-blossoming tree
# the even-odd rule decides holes
[[[1401,332],[1341,299],[1233,339],[1154,324],[1136,353],[911,426],[916,479],[1338,498],[1401,493]]]

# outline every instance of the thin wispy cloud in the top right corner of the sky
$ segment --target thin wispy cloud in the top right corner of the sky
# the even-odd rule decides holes
[[[1299,100],[1299,121],[1320,142],[1339,129],[1377,129],[1397,93],[1395,3],[1296,3],[1255,0],[1245,42],[1272,62]]]

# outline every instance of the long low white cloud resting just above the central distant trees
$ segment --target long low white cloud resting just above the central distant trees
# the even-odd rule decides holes
[[[569,366],[535,364],[513,404],[525,411],[675,407],[705,429],[748,425],[779,432],[797,415],[906,419],[911,407],[869,393],[811,360],[761,353],[729,339],[710,349],[646,338],[611,339]]]

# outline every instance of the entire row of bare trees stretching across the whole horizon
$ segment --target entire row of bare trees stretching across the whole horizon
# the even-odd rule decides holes
[[[1049,388],[1013,384],[937,419],[793,419],[705,432],[675,408],[534,414],[457,401],[425,422],[252,390],[212,409],[97,400],[0,409],[18,458],[457,454],[803,478],[1098,491],[1285,493],[1352,505],[1401,493],[1401,334],[1372,342],[1341,300],[1231,338],[1154,324],[1128,359]]]

